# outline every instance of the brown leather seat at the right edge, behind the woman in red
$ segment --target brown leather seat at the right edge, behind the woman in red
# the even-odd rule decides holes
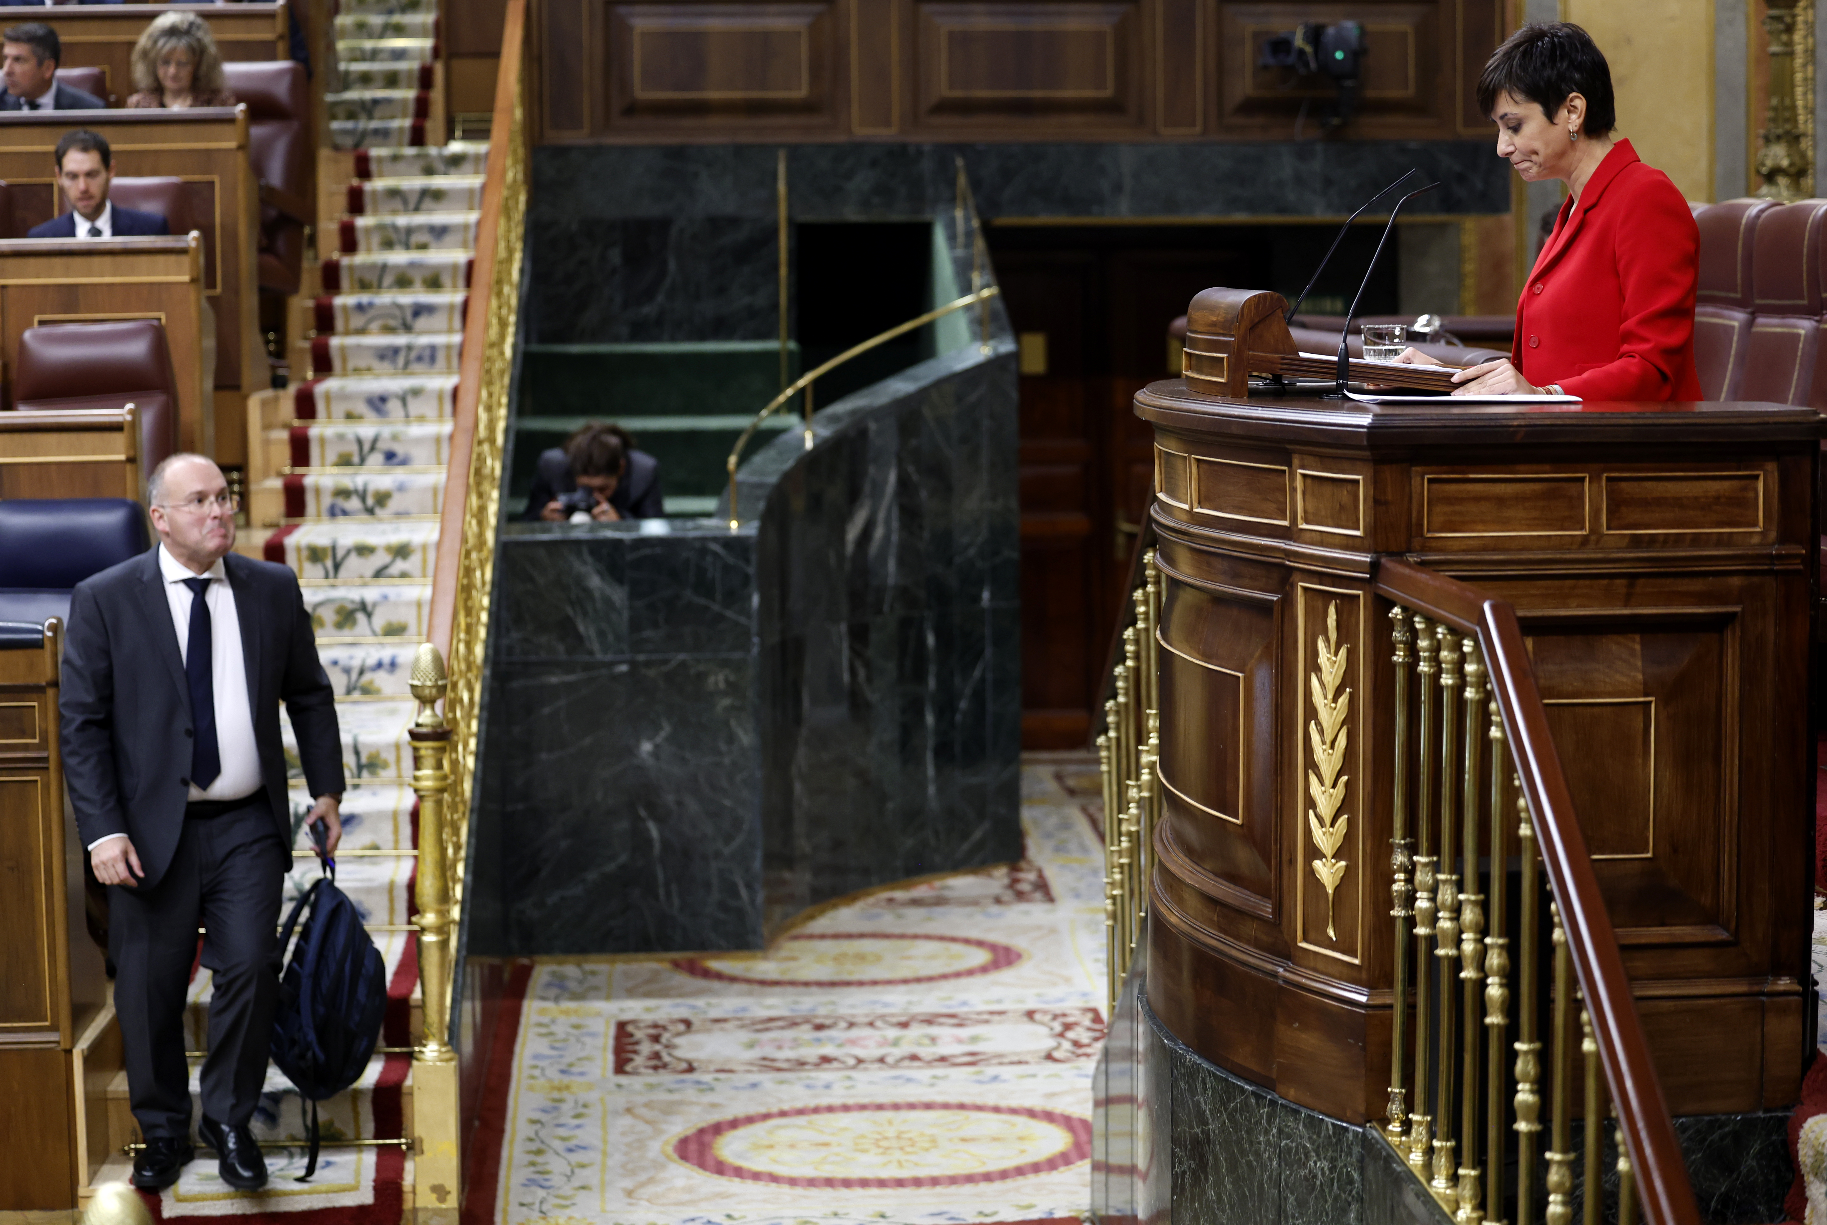
[[[1737,400],[1807,403],[1822,316],[1822,234],[1827,201],[1774,208],[1752,236],[1754,318]],[[1705,257],[1705,256],[1703,256]]]

